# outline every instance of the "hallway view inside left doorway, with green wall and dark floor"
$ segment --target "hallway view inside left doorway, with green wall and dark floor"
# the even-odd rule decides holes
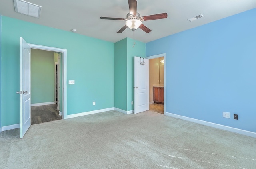
[[[62,53],[31,49],[31,124],[62,119],[60,102],[62,72],[58,70]],[[62,103],[61,103],[62,105]]]

